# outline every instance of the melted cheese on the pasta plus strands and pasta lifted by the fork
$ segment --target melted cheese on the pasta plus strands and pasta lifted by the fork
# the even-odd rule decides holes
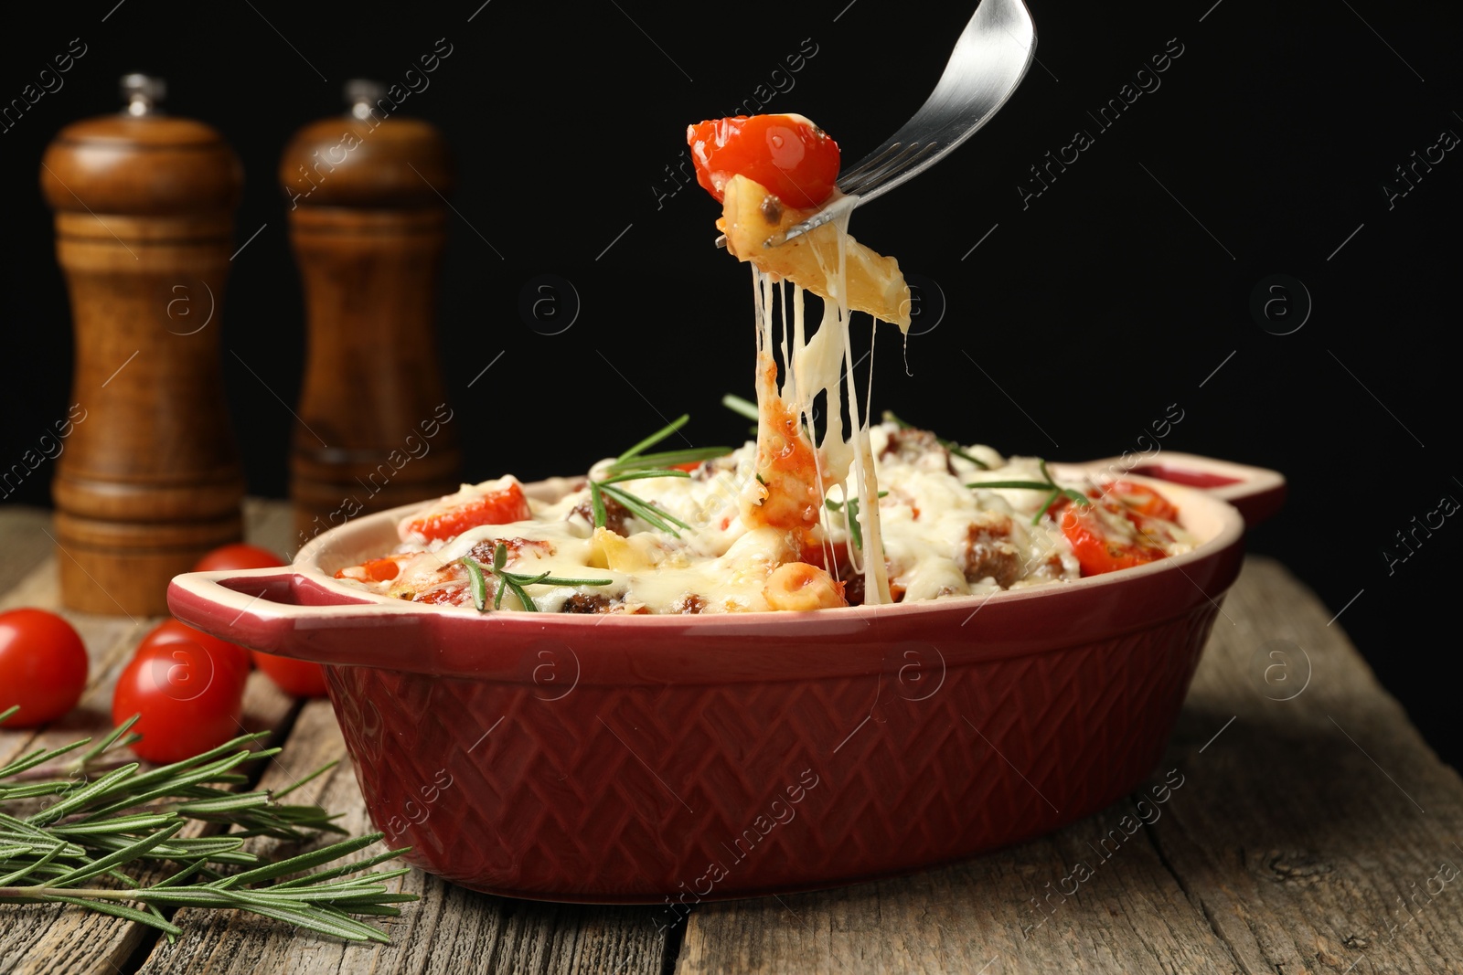
[[[679,536],[654,531],[628,512],[616,513],[613,528],[620,531],[609,523],[595,528],[584,515],[590,488],[581,484],[553,503],[531,500],[530,520],[483,525],[448,541],[427,542],[407,532],[404,522],[402,545],[391,555],[398,566],[395,579],[375,582],[366,566],[342,570],[342,577],[404,599],[467,607],[473,596],[459,560],[490,564],[493,550],[503,544],[508,572],[607,580],[528,586],[535,608],[657,614],[770,610],[770,593],[774,604],[787,608],[830,605],[854,583],[863,604],[887,604],[1080,577],[1058,523],[1049,513],[1037,516],[1048,491],[967,487],[1042,481],[1037,459],[1007,460],[989,447],[966,449],[985,463],[982,468],[951,455],[933,434],[870,425],[873,344],[869,392],[860,403],[850,311],[881,314],[894,307],[890,317],[907,329],[909,288],[898,265],[849,237],[849,210],[806,238],[761,249],[768,227],[786,229],[802,215],[749,205],[749,199],[762,199],[758,191],[765,194],[745,177],[730,180],[723,218],[729,249],[752,265],[756,441],[704,463],[691,478],[633,481],[639,498],[693,531]],[[825,298],[813,330],[805,314],[805,285]],[[891,306],[900,300],[903,304]],[[780,314],[774,313],[778,308]],[[821,433],[815,422],[819,398],[827,403]],[[610,463],[601,460],[590,478],[603,479]],[[464,485],[437,507],[471,506],[505,482]],[[1127,525],[1122,515],[1113,517],[1122,522],[1113,523],[1115,532]],[[1166,554],[1192,545],[1182,528],[1165,523],[1165,531]],[[816,561],[834,573],[851,569],[862,577],[832,580],[822,567],[799,564]],[[809,592],[790,596],[775,583],[770,588],[780,567],[794,570],[778,576],[781,585],[796,576],[793,585],[808,583]],[[496,580],[489,585],[496,586]],[[503,604],[522,608],[511,595]]]

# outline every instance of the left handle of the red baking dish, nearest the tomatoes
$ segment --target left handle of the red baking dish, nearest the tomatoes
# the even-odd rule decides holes
[[[364,630],[392,629],[398,653],[430,648],[432,618],[440,617],[410,602],[357,599],[290,566],[174,576],[168,608],[230,643],[322,664],[364,662]]]

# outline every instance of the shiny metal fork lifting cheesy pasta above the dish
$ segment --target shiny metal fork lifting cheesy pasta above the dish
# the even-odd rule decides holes
[[[1001,110],[1036,57],[1036,25],[1021,0],[982,0],[961,31],[935,91],[920,110],[869,155],[838,174],[838,196],[786,234],[777,247],[884,196],[944,159]],[[717,238],[717,246],[726,237]]]

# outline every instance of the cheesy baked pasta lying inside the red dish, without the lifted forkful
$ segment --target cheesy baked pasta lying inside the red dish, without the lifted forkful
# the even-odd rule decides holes
[[[1049,481],[1036,458],[947,446],[892,420],[873,424],[869,441],[895,602],[1061,583],[1192,545],[1172,504],[1132,482]],[[484,611],[496,604],[500,611],[698,614],[866,602],[868,538],[857,501],[832,488],[806,532],[800,520],[749,520],[742,493],[758,482],[756,465],[758,444],[748,443],[674,475],[617,482],[633,485],[644,513],[591,487],[613,479],[616,459],[560,484],[566,490],[557,500],[530,497],[512,477],[464,485],[404,519],[394,551],[338,577],[398,599]]]

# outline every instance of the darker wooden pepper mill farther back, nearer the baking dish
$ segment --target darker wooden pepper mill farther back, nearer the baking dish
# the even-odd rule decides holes
[[[452,189],[446,143],[373,82],[306,126],[279,183],[309,348],[291,453],[297,541],[372,510],[449,494],[461,453],[433,317]]]

